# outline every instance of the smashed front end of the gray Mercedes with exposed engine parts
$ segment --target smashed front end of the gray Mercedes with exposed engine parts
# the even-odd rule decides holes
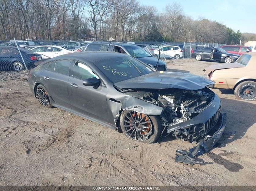
[[[225,129],[226,114],[221,113],[221,100],[207,87],[199,90],[168,88],[119,89],[119,91],[162,107],[163,134],[172,135],[190,143],[199,142],[198,152],[194,151],[195,155],[186,155],[186,151],[180,153],[185,160],[210,150]],[[196,148],[193,149],[196,150]]]

